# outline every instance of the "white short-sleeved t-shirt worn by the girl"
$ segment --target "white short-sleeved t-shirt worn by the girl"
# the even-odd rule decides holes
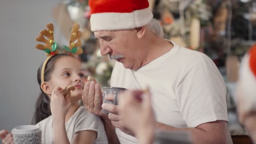
[[[42,143],[54,143],[53,116],[45,118],[36,125],[38,125],[40,130],[42,130]],[[101,119],[85,110],[83,106],[80,106],[72,117],[69,118],[68,122],[66,122],[66,131],[69,142],[72,142],[74,134],[84,130],[94,130],[97,132],[97,138],[94,143],[108,143]]]

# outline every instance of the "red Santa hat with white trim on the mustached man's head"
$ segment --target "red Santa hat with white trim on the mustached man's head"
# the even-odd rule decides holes
[[[91,31],[115,31],[147,25],[153,18],[148,0],[89,0]]]

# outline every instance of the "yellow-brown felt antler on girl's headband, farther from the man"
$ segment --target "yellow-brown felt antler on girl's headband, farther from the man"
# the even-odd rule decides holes
[[[37,41],[44,43],[45,45],[42,44],[37,44],[36,48],[39,50],[45,50],[45,49],[50,49],[51,46],[54,44],[54,26],[53,23],[48,23],[46,25],[48,30],[44,29],[43,31],[40,32],[38,37],[36,38]],[[44,36],[48,39],[45,39]]]

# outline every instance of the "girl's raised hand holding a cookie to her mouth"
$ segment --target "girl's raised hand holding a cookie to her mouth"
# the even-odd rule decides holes
[[[66,114],[71,106],[70,103],[70,95],[66,95],[64,97],[61,94],[60,87],[54,88],[53,92],[51,93],[51,114],[53,115],[54,121],[65,121]]]

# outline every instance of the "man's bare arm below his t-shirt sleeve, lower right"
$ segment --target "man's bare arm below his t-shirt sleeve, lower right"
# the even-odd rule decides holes
[[[189,131],[194,143],[228,143],[228,122],[215,121],[198,125],[196,128],[174,128],[156,123],[159,130]]]

